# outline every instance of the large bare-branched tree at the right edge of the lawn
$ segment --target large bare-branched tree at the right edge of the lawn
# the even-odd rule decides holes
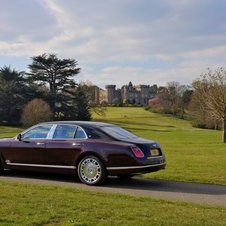
[[[207,73],[193,82],[193,88],[202,111],[208,117],[222,122],[222,141],[226,143],[226,69],[208,69]]]

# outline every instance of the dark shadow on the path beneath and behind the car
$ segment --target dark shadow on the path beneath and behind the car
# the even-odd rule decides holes
[[[77,177],[73,175],[63,175],[63,174],[5,171],[1,177],[16,178],[19,180],[31,179],[31,180],[42,180],[46,182],[54,181],[54,184],[57,184],[57,182],[63,182],[64,184],[65,183],[70,185],[74,184],[75,186],[76,184],[82,185]],[[119,179],[117,177],[109,177],[107,181],[100,187],[118,190],[131,190],[131,191],[139,190],[144,192],[157,191],[157,192],[175,192],[190,194],[226,195],[226,186],[224,185],[210,185],[210,184],[175,182],[156,179],[143,179],[141,176],[136,176],[130,179]]]

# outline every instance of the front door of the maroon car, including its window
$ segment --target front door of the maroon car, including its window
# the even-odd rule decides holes
[[[12,140],[7,151],[3,151],[3,157],[9,168],[45,164],[46,141],[51,128],[50,124],[38,125],[24,132],[21,139]]]

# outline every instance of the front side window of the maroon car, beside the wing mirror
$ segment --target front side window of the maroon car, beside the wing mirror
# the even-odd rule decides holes
[[[30,130],[28,130],[27,132],[22,134],[22,138],[46,139],[51,127],[52,127],[52,125],[40,125],[40,126],[31,128]]]

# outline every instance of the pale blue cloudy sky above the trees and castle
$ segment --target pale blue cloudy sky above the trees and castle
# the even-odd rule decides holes
[[[101,88],[190,85],[226,64],[225,0],[0,0],[0,67],[72,58]]]

